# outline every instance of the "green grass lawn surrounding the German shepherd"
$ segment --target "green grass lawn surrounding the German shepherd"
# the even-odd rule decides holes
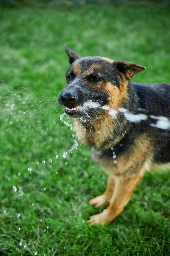
[[[65,43],[82,56],[147,67],[133,81],[170,83],[169,13],[144,5],[0,9],[1,256],[170,256],[170,171],[146,173],[111,224],[89,227],[101,209],[88,201],[107,176],[88,147],[69,152],[75,137],[57,102]]]

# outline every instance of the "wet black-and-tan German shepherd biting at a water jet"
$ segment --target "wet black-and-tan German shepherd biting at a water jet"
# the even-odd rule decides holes
[[[105,224],[123,211],[146,170],[170,163],[170,84],[132,83],[130,78],[145,67],[82,58],[68,45],[65,50],[70,68],[59,103],[73,117],[79,140],[91,146],[94,162],[108,174],[104,194],[89,202],[95,208],[109,205],[88,221]]]

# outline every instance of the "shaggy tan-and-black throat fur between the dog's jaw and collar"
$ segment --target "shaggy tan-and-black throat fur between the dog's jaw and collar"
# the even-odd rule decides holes
[[[108,111],[95,119],[87,119],[85,122],[80,118],[74,119],[74,131],[82,143],[105,150],[116,145],[127,130],[127,121],[121,113],[113,119]]]

